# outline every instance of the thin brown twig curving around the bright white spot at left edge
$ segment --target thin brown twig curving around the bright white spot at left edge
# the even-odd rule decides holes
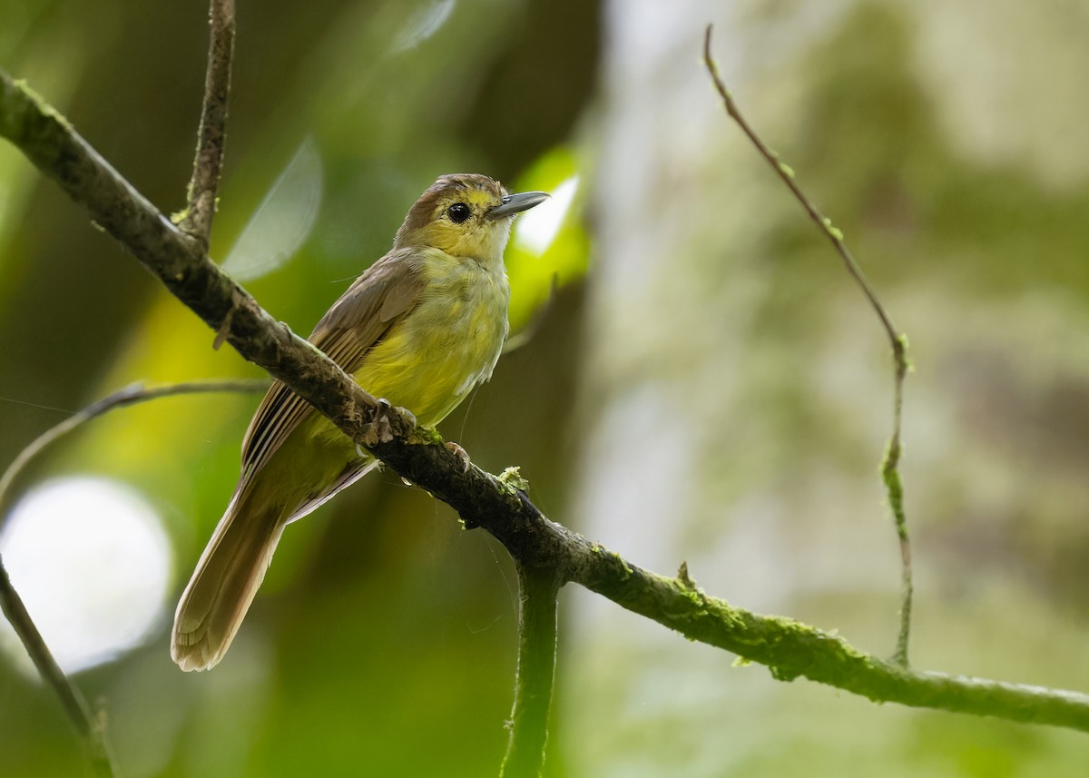
[[[259,391],[267,387],[268,381],[266,380],[191,381],[154,387],[151,389],[133,385],[88,405],[35,438],[29,446],[19,452],[19,455],[8,466],[3,476],[0,477],[0,522],[4,520],[4,507],[10,498],[11,487],[20,473],[26,469],[26,465],[49,446],[90,420],[117,408],[147,402],[148,400],[156,400],[162,397],[194,394],[197,392]],[[83,739],[95,774],[99,776],[113,776],[114,770],[106,742],[105,717],[95,715],[79,691],[79,688],[64,674],[60,665],[57,664],[52,652],[49,651],[49,646],[46,645],[46,641],[27,612],[23,599],[12,585],[11,578],[8,575],[8,570],[4,568],[2,559],[0,559],[0,608],[3,609],[3,615],[14,628],[15,634],[19,635],[20,641],[22,641],[23,646],[26,648],[26,653],[30,655],[30,659],[34,661],[34,666],[38,669],[41,678],[57,693],[61,705],[64,707],[64,712],[72,720],[72,724],[75,725],[76,731]]]

